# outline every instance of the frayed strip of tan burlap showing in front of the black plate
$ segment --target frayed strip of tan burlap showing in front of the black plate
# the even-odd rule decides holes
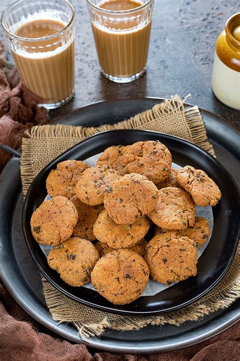
[[[82,340],[101,336],[105,329],[118,331],[139,330],[148,324],[179,326],[186,321],[197,321],[202,317],[229,307],[240,297],[240,246],[233,263],[218,285],[201,300],[181,310],[151,317],[129,317],[107,313],[69,299],[43,279],[44,295],[49,311],[55,321],[72,322]]]

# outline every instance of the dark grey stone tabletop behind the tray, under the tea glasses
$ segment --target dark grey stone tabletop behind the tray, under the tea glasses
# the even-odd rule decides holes
[[[215,44],[238,0],[155,0],[147,73],[128,84],[116,84],[99,72],[97,53],[84,0],[71,0],[76,13],[75,96],[53,119],[84,105],[125,96],[169,97],[191,93],[189,103],[240,125],[240,112],[220,103],[211,89]],[[2,0],[0,12],[9,5]],[[3,29],[0,37],[3,37]]]

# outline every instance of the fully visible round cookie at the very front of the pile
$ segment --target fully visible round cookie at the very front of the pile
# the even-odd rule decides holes
[[[129,249],[114,250],[103,256],[91,273],[93,286],[115,305],[125,305],[139,298],[148,278],[145,260]]]

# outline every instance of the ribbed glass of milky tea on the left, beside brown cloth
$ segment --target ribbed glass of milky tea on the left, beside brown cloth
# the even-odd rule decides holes
[[[54,109],[74,94],[74,11],[66,0],[20,0],[2,16],[23,84]]]

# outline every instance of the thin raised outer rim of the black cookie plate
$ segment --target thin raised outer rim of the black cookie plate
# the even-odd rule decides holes
[[[223,172],[226,173],[226,175],[228,176],[228,178],[231,180],[231,182],[233,183],[234,185],[234,188],[237,192],[237,195],[238,195],[238,205],[240,205],[240,192],[239,192],[239,189],[237,187],[237,184],[235,182],[235,180],[233,179],[233,177],[231,176],[231,174],[226,170],[226,168],[221,164],[221,162],[216,159],[215,157],[213,157],[209,152],[205,151],[203,148],[197,146],[196,144],[194,143],[191,143],[185,139],[182,139],[182,138],[179,138],[179,137],[176,137],[176,136],[172,136],[172,135],[168,135],[168,134],[164,134],[164,133],[161,133],[161,132],[154,132],[152,130],[139,130],[139,129],[113,129],[113,130],[105,130],[104,132],[100,132],[100,133],[97,133],[77,144],[75,144],[74,146],[70,147],[69,149],[67,149],[66,151],[64,151],[63,153],[61,153],[60,155],[58,155],[56,158],[54,158],[50,163],[48,163],[48,165],[46,167],[44,167],[41,172],[38,173],[38,175],[41,175],[42,173],[45,172],[46,168],[49,168],[49,166],[52,166],[54,163],[57,162],[57,160],[62,157],[65,153],[69,152],[70,150],[74,149],[75,147],[77,147],[79,144],[83,144],[85,142],[88,142],[89,139],[92,139],[92,138],[95,138],[95,137],[101,137],[103,134],[105,133],[113,133],[113,132],[142,132],[142,133],[150,133],[150,134],[157,134],[157,135],[164,135],[164,136],[167,136],[169,137],[170,139],[171,138],[175,138],[176,140],[180,140],[181,142],[184,142],[184,143],[187,143],[189,144],[191,147],[196,147],[198,150],[201,150],[201,152],[205,152],[208,156],[210,156],[210,158],[212,158],[212,160],[214,162],[217,162],[218,166],[222,169]],[[34,180],[38,177],[38,175],[34,178]],[[34,185],[34,180],[32,182],[32,184]],[[164,310],[164,311],[135,311],[135,310],[121,310],[121,309],[116,309],[116,308],[111,308],[111,307],[108,307],[108,306],[102,306],[102,305],[96,305],[96,304],[93,304],[89,301],[85,301],[85,300],[79,300],[78,297],[74,296],[74,294],[72,294],[71,292],[68,292],[67,290],[65,289],[62,289],[61,285],[55,283],[52,279],[51,279],[51,276],[49,276],[44,269],[42,269],[41,265],[38,264],[37,260],[35,259],[35,256],[32,252],[32,249],[30,248],[30,245],[28,243],[28,237],[26,235],[26,231],[25,231],[25,227],[24,227],[24,223],[26,222],[25,220],[25,214],[26,214],[26,205],[27,205],[27,200],[28,200],[28,197],[29,197],[29,194],[31,192],[31,188],[32,188],[32,184],[30,185],[29,189],[28,189],[28,192],[26,194],[26,197],[25,197],[25,200],[24,200],[24,205],[23,205],[23,211],[22,211],[22,229],[23,229],[23,234],[24,234],[24,239],[25,239],[25,242],[27,244],[27,247],[28,247],[28,250],[31,254],[31,257],[33,258],[38,270],[46,277],[46,279],[54,286],[56,287],[59,291],[61,291],[63,294],[65,294],[66,296],[70,297],[71,299],[77,301],[77,302],[80,302],[80,303],[83,303],[87,306],[90,306],[90,307],[93,307],[93,308],[96,308],[96,309],[100,309],[102,311],[105,311],[105,312],[112,312],[112,313],[115,313],[115,314],[124,314],[124,315],[134,315],[134,316],[146,316],[146,315],[157,315],[157,314],[164,314],[164,313],[167,313],[167,312],[171,312],[171,311],[175,311],[175,310],[178,310],[178,309],[181,309],[187,305],[190,305],[192,303],[194,303],[195,301],[201,299],[202,297],[204,297],[211,289],[213,289],[218,283],[219,281],[224,277],[224,275],[226,274],[226,272],[228,271],[230,265],[231,265],[231,262],[233,260],[233,257],[236,253],[236,249],[237,249],[237,241],[235,242],[235,245],[234,245],[234,251],[233,251],[233,257],[228,261],[228,266],[226,267],[226,269],[224,270],[224,272],[222,272],[222,274],[215,280],[214,283],[212,283],[204,292],[201,293],[201,295],[198,297],[195,297],[193,299],[191,299],[190,301],[188,302],[185,302],[183,304],[181,304],[181,306],[179,307],[173,307],[171,308],[170,310]],[[238,238],[239,238],[239,234],[240,234],[240,229],[238,229]]]

